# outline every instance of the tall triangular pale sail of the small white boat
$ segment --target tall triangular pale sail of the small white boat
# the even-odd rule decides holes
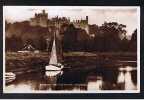
[[[57,63],[58,62],[57,62],[57,54],[56,54],[56,43],[55,43],[55,36],[54,36],[54,41],[53,41],[53,46],[52,46],[49,64],[57,65]]]

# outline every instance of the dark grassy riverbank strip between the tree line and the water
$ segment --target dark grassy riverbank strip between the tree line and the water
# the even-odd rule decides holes
[[[50,52],[5,53],[6,72],[24,74],[44,70],[49,63]],[[136,52],[64,52],[63,63],[70,70],[95,69],[96,67],[117,68],[137,65]]]

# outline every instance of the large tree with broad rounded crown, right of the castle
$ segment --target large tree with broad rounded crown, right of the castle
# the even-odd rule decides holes
[[[117,22],[105,22],[99,27],[99,33],[95,37],[96,50],[100,51],[118,51],[121,35],[126,35],[126,25]]]

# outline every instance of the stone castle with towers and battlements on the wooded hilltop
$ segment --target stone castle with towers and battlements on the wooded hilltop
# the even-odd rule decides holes
[[[42,10],[42,13],[35,13],[34,18],[30,19],[31,26],[50,27],[55,26],[56,23],[58,27],[60,27],[64,23],[72,23],[76,28],[84,29],[87,33],[89,33],[88,16],[86,16],[85,20],[81,19],[70,22],[70,19],[66,17],[56,16],[54,18],[49,19],[48,13],[46,13],[45,10]]]

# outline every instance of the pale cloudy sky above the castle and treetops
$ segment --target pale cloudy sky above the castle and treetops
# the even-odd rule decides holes
[[[46,10],[48,18],[55,16],[69,17],[70,20],[89,17],[89,24],[102,25],[106,22],[118,22],[126,25],[127,34],[131,35],[138,28],[139,10],[137,7],[104,6],[4,6],[4,18],[9,22],[30,20],[35,13]]]

